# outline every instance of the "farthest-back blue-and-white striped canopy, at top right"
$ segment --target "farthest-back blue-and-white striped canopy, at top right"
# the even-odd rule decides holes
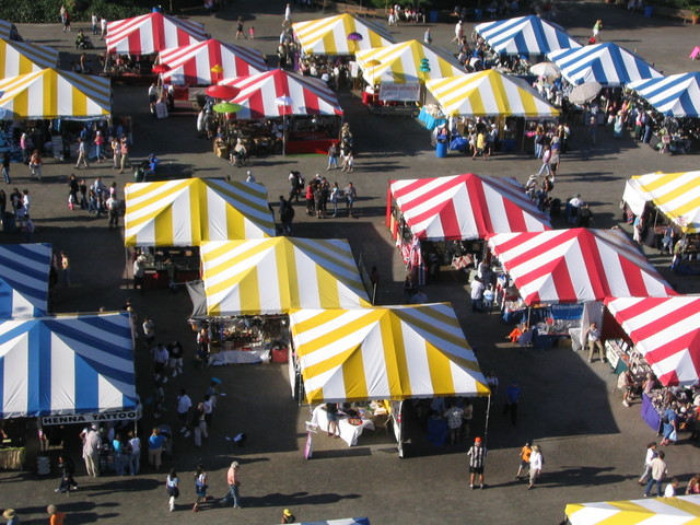
[[[563,27],[535,15],[485,22],[475,31],[501,55],[537,56],[581,47]]]

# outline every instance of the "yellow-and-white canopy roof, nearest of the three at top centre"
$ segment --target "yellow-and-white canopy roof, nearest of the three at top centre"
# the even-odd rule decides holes
[[[555,117],[559,110],[524,82],[493,69],[425,82],[445,115]]]

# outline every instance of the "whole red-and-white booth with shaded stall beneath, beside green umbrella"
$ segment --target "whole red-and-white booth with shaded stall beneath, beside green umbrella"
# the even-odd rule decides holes
[[[338,142],[342,108],[320,79],[275,69],[220,84],[241,90],[231,102],[242,108],[226,115],[230,143],[217,148],[241,139],[249,153],[270,152],[271,142],[284,153],[326,154]]]

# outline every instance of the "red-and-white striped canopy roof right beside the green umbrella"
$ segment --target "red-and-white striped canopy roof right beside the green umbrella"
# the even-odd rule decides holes
[[[259,120],[283,115],[342,115],[337,95],[320,79],[302,77],[282,69],[264,73],[226,79],[220,84],[234,85],[241,90],[233,101],[243,108],[231,114],[238,120]],[[278,104],[287,96],[291,104]]]

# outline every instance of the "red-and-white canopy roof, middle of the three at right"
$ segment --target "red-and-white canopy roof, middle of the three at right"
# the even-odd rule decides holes
[[[489,246],[527,304],[675,295],[619,230],[497,233]]]

